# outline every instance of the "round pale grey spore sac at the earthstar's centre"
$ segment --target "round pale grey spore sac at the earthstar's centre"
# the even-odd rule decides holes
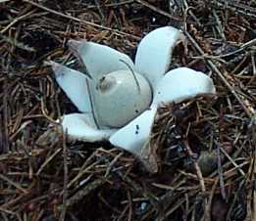
[[[122,127],[150,106],[152,93],[143,76],[119,70],[99,80],[93,100],[99,125]]]

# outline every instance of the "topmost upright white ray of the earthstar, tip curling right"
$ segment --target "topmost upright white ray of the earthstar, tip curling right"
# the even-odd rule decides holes
[[[173,49],[182,34],[172,26],[149,32],[139,43],[135,57],[135,70],[143,74],[152,87],[168,71]]]

